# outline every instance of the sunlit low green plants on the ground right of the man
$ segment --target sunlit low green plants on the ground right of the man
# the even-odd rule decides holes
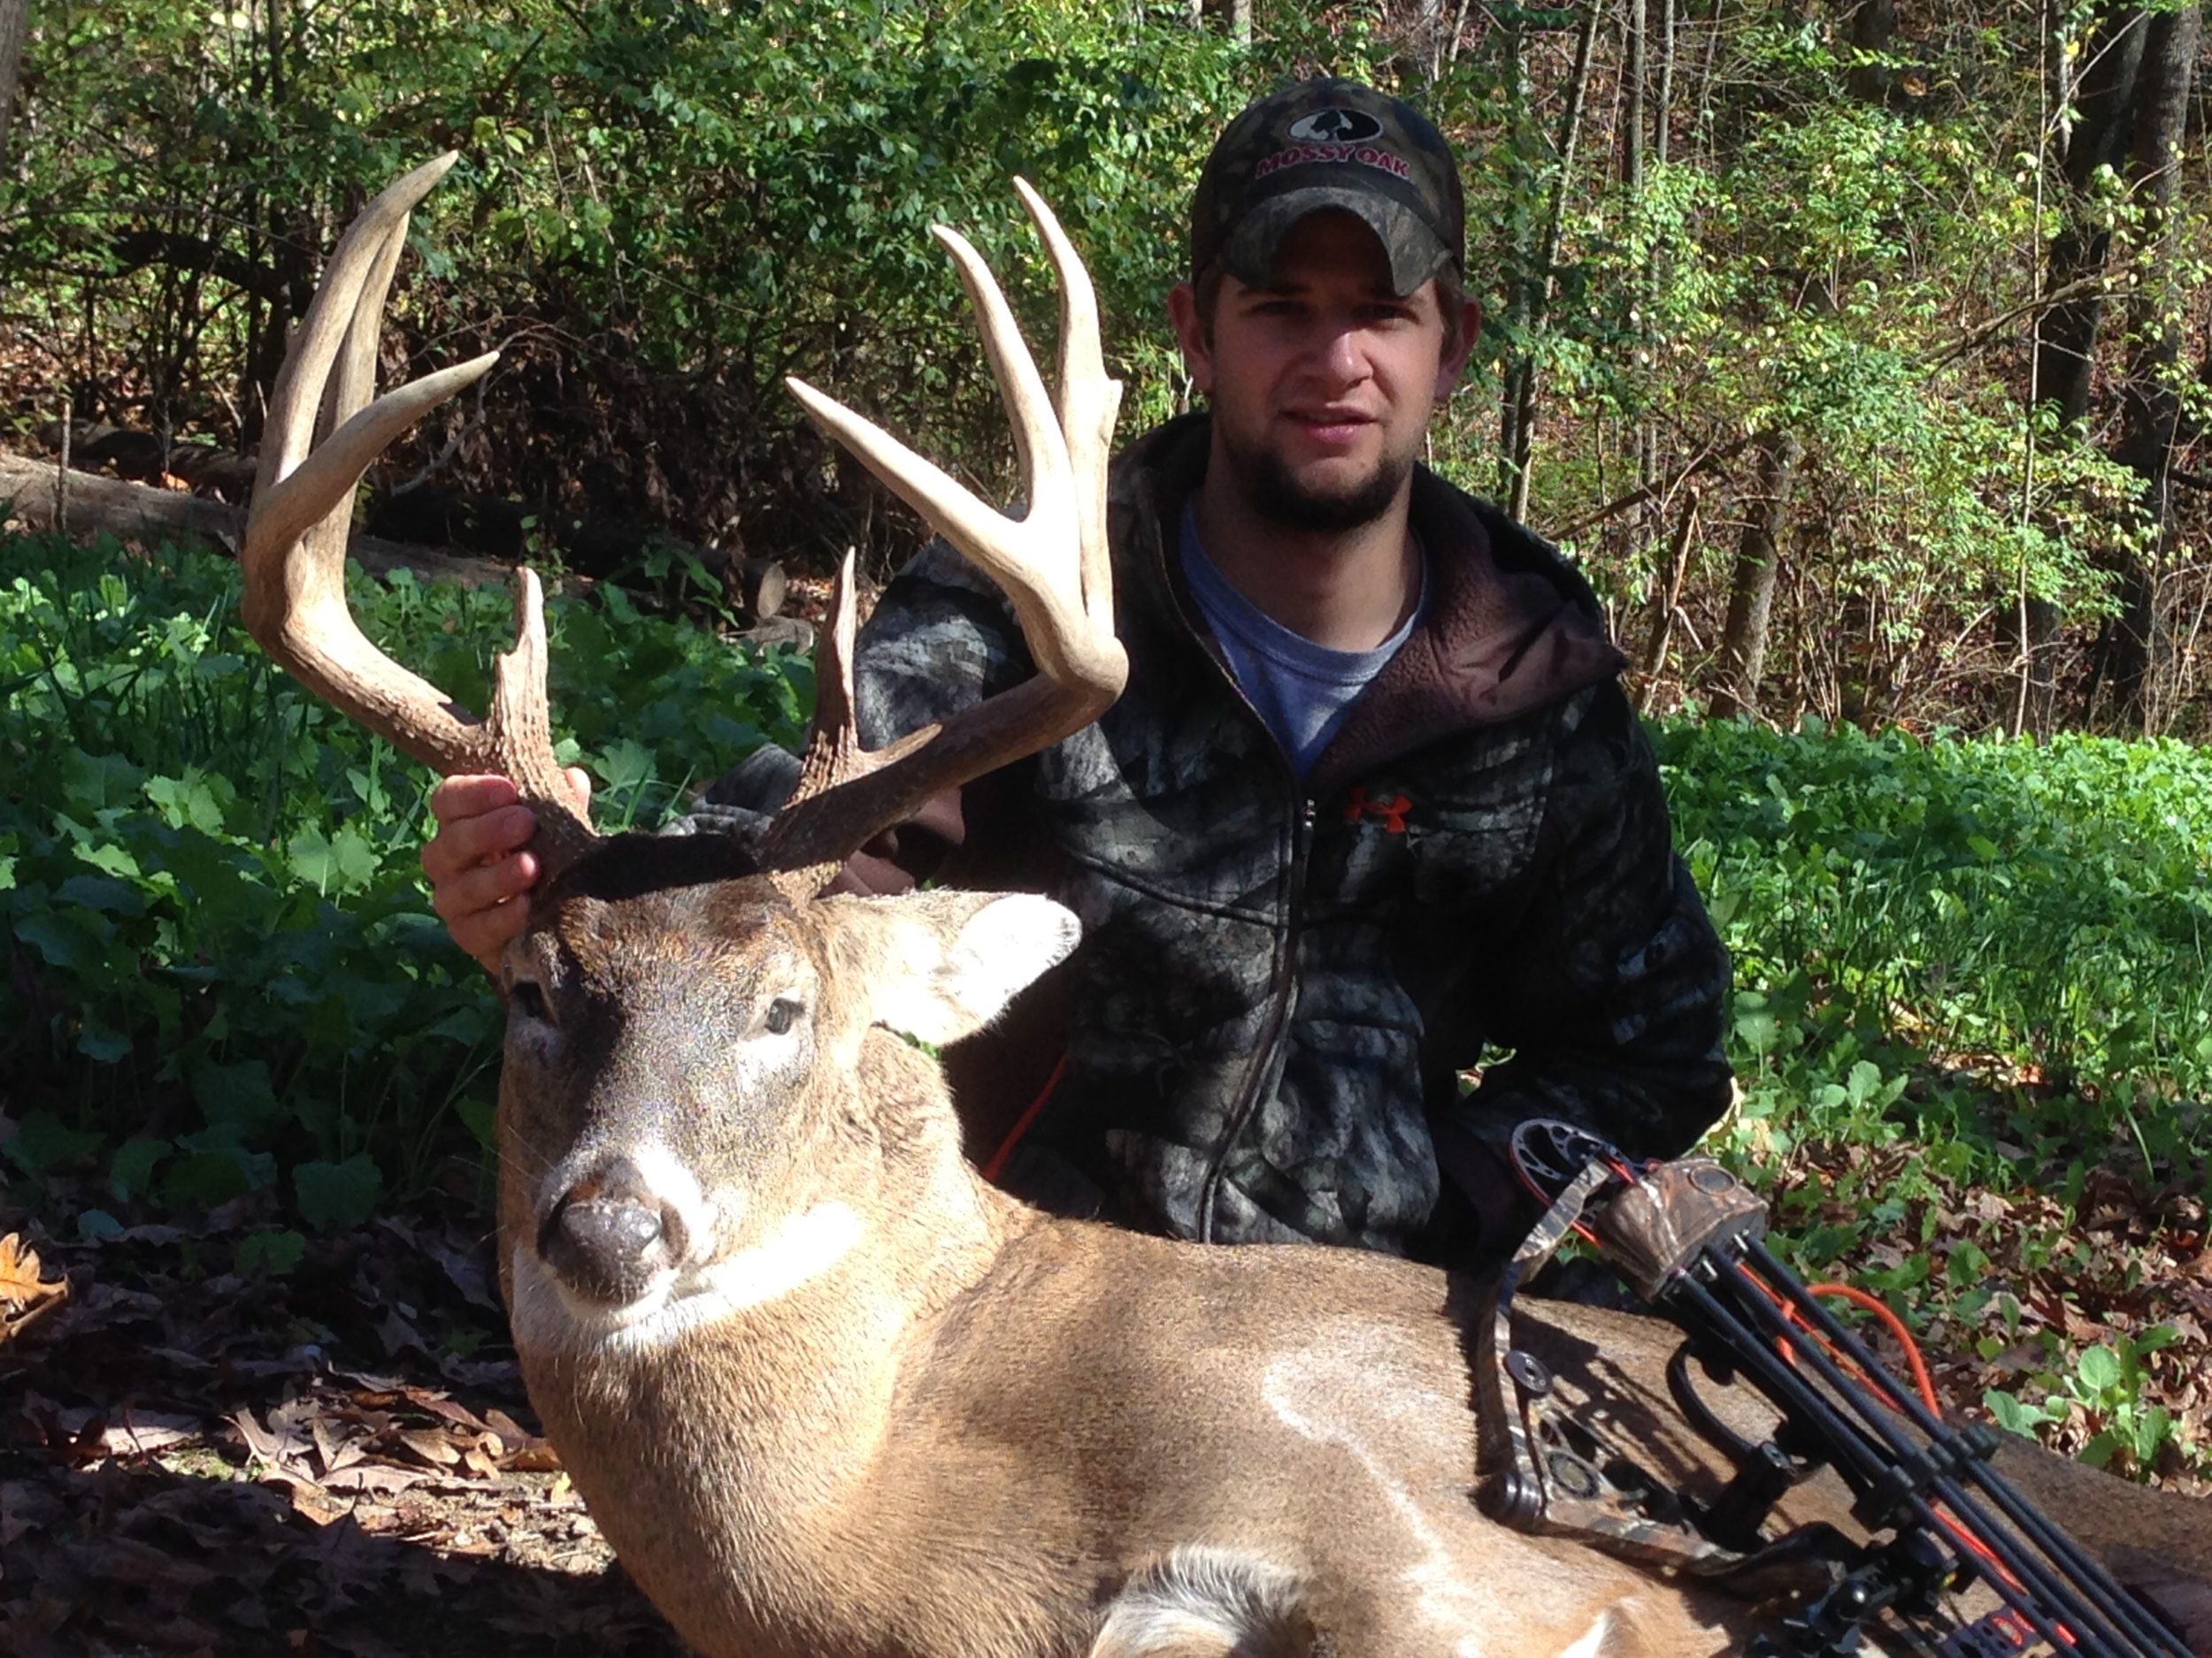
[[[1911,1134],[1997,1183],[2020,1158],[2205,1167],[2212,756],[1741,723],[1657,741],[1767,1150]]]

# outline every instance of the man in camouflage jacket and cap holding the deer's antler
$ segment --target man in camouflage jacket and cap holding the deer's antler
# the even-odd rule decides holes
[[[1110,484],[1128,690],[896,849],[1084,922],[951,1054],[971,1150],[1048,1207],[1480,1265],[1531,1218],[1517,1123],[1672,1154],[1728,1103],[1728,962],[1597,606],[1418,464],[1480,325],[1462,217],[1444,139],[1365,86],[1230,124],[1168,301],[1210,413],[1139,438]],[[863,734],[1029,672],[1000,597],[933,546],[863,632]],[[699,827],[757,831],[794,772],[763,749]],[[447,783],[422,853],[487,964],[533,878],[509,800]],[[1462,1092],[1486,1048],[1511,1057]]]

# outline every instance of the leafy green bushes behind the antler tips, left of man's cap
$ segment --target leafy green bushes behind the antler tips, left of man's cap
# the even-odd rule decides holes
[[[416,214],[394,332],[436,365],[507,349],[469,462],[560,506],[588,444],[637,504],[699,531],[745,515],[781,555],[867,533],[785,374],[1011,478],[929,239],[969,234],[1051,338],[1009,175],[1084,248],[1130,416],[1166,413],[1159,316],[1183,234],[1161,203],[1186,199],[1221,115],[1267,75],[1221,35],[1068,0],[405,0],[279,27],[259,4],[53,11],[69,73],[40,88],[22,175],[0,179],[0,292],[42,294],[49,336],[82,316],[119,340],[148,424],[250,402],[241,378],[272,365],[272,329],[347,214],[451,146],[462,164]],[[440,422],[462,416],[434,420],[429,449]]]

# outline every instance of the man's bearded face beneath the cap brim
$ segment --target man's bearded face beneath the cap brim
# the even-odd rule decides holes
[[[1478,325],[1469,305],[1451,336],[1433,281],[1398,298],[1383,243],[1349,212],[1298,221],[1267,287],[1223,274],[1212,338],[1188,285],[1168,309],[1237,489],[1267,520],[1323,531],[1391,506]]]

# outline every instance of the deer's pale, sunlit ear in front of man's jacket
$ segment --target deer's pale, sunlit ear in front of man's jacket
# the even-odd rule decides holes
[[[869,986],[869,1019],[922,1041],[982,1030],[1015,993],[1066,959],[1082,922],[1029,893],[902,893],[827,898],[843,924],[869,940],[847,964]]]

